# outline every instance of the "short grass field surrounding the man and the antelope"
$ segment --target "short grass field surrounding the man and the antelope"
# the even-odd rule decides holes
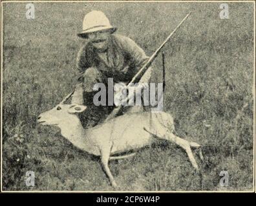
[[[102,10],[147,55],[192,11],[165,46],[164,110],[176,134],[202,145],[202,174],[186,153],[162,142],[134,158],[111,162],[121,190],[253,189],[253,3],[25,3],[3,4],[3,190],[112,190],[98,158],[79,151],[55,127],[38,126],[76,82],[76,37],[83,16]],[[161,59],[153,79],[161,82]],[[36,175],[25,185],[27,171]],[[228,171],[229,185],[219,184]]]

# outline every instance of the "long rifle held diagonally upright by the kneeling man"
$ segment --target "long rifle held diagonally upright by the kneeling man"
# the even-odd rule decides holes
[[[171,39],[171,36],[176,32],[176,30],[178,30],[178,28],[180,27],[180,25],[182,23],[184,23],[184,21],[187,19],[187,17],[191,14],[191,12],[189,12],[189,14],[186,15],[186,17],[184,17],[184,19],[182,19],[182,21],[178,24],[178,26],[176,26],[175,30],[173,30],[173,32],[171,32],[171,34],[165,39],[165,41],[161,44],[161,46],[158,47],[158,49],[156,50],[155,53],[153,53],[153,55],[151,55],[151,57],[149,58],[149,60],[144,64],[144,66],[142,66],[142,68],[138,71],[138,73],[136,73],[136,75],[133,77],[133,79],[131,80],[131,82],[129,82],[129,84],[127,84],[127,88],[129,86],[131,86],[134,83],[137,83],[140,81],[140,79],[142,78],[142,76],[144,75],[145,71],[147,71],[147,69],[151,66],[152,62],[156,59],[158,53],[161,52],[162,48],[164,47],[164,45],[166,44],[167,41],[169,41],[169,39]],[[105,122],[107,122],[108,120],[110,120],[111,118],[115,117],[118,112],[120,111],[120,109],[122,108],[122,105],[116,107],[113,109],[113,111],[110,113],[109,117],[107,117],[105,119]]]

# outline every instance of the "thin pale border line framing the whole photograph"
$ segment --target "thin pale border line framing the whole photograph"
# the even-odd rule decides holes
[[[1,0],[0,0],[1,1]],[[3,190],[3,4],[5,3],[253,3],[253,190],[248,191],[4,191]],[[255,1],[1,1],[1,192],[3,193],[255,193]]]

